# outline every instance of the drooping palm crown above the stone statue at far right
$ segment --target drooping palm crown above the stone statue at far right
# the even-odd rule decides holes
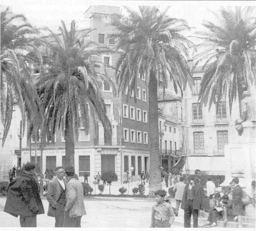
[[[198,100],[205,106],[209,104],[209,109],[228,92],[231,114],[237,94],[241,106],[244,82],[255,88],[255,18],[251,17],[254,9],[221,7],[219,13],[213,13],[219,24],[207,21],[203,25],[208,31],[197,32],[196,37],[205,40],[197,47],[207,44],[213,51],[205,53],[195,64],[206,60]]]

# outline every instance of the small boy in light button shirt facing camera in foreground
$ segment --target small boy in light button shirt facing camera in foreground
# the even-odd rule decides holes
[[[158,190],[155,192],[156,204],[153,205],[151,215],[152,228],[168,228],[174,222],[175,214],[170,203],[164,201],[166,196],[165,190]]]

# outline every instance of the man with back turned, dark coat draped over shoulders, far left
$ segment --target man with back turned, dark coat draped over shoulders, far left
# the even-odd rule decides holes
[[[20,216],[21,227],[36,227],[36,215],[43,214],[43,203],[33,179],[35,166],[25,164],[23,173],[9,184],[4,212]]]

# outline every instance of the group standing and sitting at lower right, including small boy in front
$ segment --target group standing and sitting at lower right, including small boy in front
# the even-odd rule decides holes
[[[175,192],[175,208],[170,209],[170,197],[166,198],[164,190],[156,192],[156,204],[153,206],[151,227],[170,227],[175,216],[178,216],[179,207],[184,210],[184,227],[190,227],[193,215],[193,227],[198,227],[199,210],[208,210],[209,216],[204,226],[217,226],[217,218],[223,217],[224,226],[230,215],[238,220],[238,227],[242,227],[244,208],[252,204],[255,210],[255,181],[251,182],[250,196],[239,186],[239,179],[233,178],[230,186],[223,187],[222,192],[216,192],[211,177],[207,178],[206,189],[201,184],[201,171],[195,170],[195,176],[189,176],[187,181],[183,176],[173,187]],[[204,200],[207,196],[207,201]],[[160,199],[161,197],[161,199]]]

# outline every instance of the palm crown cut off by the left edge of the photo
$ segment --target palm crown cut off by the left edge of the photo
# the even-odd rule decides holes
[[[17,20],[20,22],[17,23]],[[37,49],[41,40],[32,38],[37,34],[39,31],[27,22],[24,15],[11,13],[8,8],[1,12],[1,120],[4,125],[2,146],[10,128],[15,102],[21,110],[23,135],[26,112],[30,111],[34,122],[37,120],[37,116],[33,115],[33,108],[39,99],[31,78],[31,69],[27,65],[42,62],[42,56]]]

